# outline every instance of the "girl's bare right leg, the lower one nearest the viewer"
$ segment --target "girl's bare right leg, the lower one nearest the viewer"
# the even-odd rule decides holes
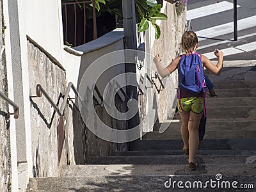
[[[195,162],[196,151],[198,148],[199,135],[198,135],[198,127],[200,124],[202,113],[196,114],[192,111],[189,112],[189,121],[188,121],[188,131],[189,131],[189,156],[188,161]]]

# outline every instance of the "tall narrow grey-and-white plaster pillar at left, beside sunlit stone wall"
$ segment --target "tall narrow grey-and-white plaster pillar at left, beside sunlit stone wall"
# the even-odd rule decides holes
[[[9,0],[6,10],[9,17],[6,22],[10,38],[6,47],[10,47],[10,60],[12,62],[13,96],[14,102],[20,107],[19,119],[16,123],[17,161],[28,162],[29,175],[32,175],[31,139],[30,139],[30,111],[28,89],[28,57],[26,47],[26,31],[24,28],[24,4],[22,1]],[[8,5],[7,5],[8,4]],[[6,12],[5,10],[5,12]],[[8,40],[7,40],[8,41]]]

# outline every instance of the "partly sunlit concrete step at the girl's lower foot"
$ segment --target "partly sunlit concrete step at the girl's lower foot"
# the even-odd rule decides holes
[[[200,164],[197,173],[207,175],[253,175],[255,164]],[[86,164],[67,166],[61,177],[108,175],[194,175],[188,164]],[[212,178],[213,179],[213,178]]]

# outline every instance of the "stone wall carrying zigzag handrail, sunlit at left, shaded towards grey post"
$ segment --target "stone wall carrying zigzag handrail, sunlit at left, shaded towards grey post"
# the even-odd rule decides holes
[[[111,143],[95,136],[84,124],[74,102],[68,101],[61,122],[60,116],[44,96],[33,97],[36,95],[36,85],[41,84],[60,108],[67,82],[65,70],[60,63],[57,63],[58,65],[54,63],[51,56],[33,40],[28,40],[28,61],[34,177],[58,176],[61,168],[66,164],[86,164],[89,157],[108,156],[112,151],[127,150],[127,143]],[[116,97],[115,103],[119,111],[126,111],[126,103],[121,99]],[[127,129],[127,122],[115,120],[108,115],[104,107],[95,106],[95,111],[102,122],[109,127]],[[95,127],[99,125],[95,124]],[[61,140],[61,135],[64,140]],[[60,145],[63,147],[61,158],[58,159]]]

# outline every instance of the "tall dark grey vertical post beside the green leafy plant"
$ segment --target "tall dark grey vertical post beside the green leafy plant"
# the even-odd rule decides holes
[[[136,15],[135,15],[135,3],[134,0],[122,0],[122,10],[123,10],[123,24],[124,24],[124,35],[125,35],[125,49],[137,49],[136,40]],[[135,56],[125,55],[125,73],[132,72],[136,74]],[[127,79],[127,82],[132,82],[136,84],[136,79]],[[127,88],[127,95],[132,99],[138,101],[137,88],[134,86],[129,86]],[[128,120],[129,129],[136,127],[139,124],[139,114]],[[140,136],[140,130],[138,130],[138,135]],[[138,145],[138,140],[130,143],[130,150],[136,149]]]

